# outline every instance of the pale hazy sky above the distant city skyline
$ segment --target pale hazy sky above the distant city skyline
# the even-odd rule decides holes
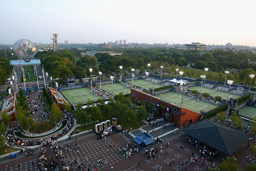
[[[233,43],[256,46],[255,0],[0,0],[0,43]]]

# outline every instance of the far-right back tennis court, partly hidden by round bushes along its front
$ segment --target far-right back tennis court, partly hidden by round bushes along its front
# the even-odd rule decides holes
[[[189,90],[197,90],[200,93],[201,87],[200,86],[194,86],[194,87],[188,87],[188,89]],[[229,96],[228,100],[230,98],[233,98],[233,99],[237,98],[237,95],[230,94],[230,93],[228,95],[228,93],[226,93],[226,92],[220,92],[220,91],[217,91],[216,89],[208,89],[208,88],[205,88],[205,87],[202,87],[202,93],[209,93],[213,97],[220,96],[220,97],[222,97],[223,100],[226,100],[228,96]]]

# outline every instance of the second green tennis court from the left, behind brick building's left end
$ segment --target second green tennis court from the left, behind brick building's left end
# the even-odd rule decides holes
[[[100,86],[98,85],[97,87],[100,88]],[[104,91],[112,94],[112,84],[104,84],[101,85],[101,89],[103,89]],[[118,83],[113,83],[113,95],[119,95],[119,93],[123,92],[124,94],[131,94],[131,89],[127,89],[126,87],[124,87],[123,85],[120,85]]]

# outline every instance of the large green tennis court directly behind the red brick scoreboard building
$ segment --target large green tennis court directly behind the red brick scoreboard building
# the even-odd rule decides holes
[[[179,93],[168,92],[168,93],[164,93],[159,96],[156,96],[156,97],[159,97],[165,101],[171,102],[172,104],[181,106],[182,95]],[[204,101],[196,101],[195,99],[191,99],[190,97],[183,95],[182,107],[185,107],[189,110],[200,113],[201,110],[204,112],[208,112],[218,106],[213,105],[211,103],[204,102]]]

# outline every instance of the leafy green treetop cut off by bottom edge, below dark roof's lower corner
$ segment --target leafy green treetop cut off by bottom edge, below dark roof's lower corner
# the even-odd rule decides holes
[[[218,169],[221,171],[238,171],[238,164],[236,164],[236,160],[233,157],[229,157],[227,160],[222,159],[221,164],[216,164]]]

